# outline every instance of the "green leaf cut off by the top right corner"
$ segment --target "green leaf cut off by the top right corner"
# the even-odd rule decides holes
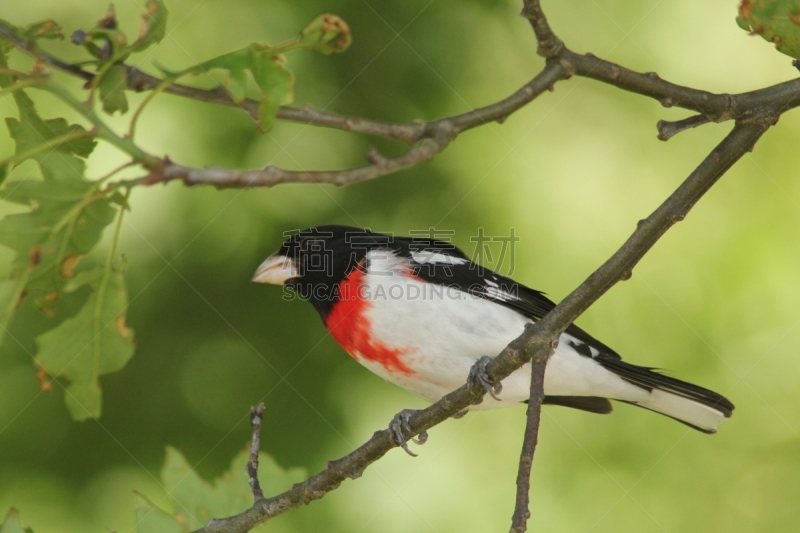
[[[742,0],[736,23],[800,59],[800,0]]]

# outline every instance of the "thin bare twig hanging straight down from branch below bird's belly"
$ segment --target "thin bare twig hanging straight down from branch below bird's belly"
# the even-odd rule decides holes
[[[514,505],[514,514],[511,517],[510,533],[525,533],[528,528],[528,519],[531,490],[531,468],[533,467],[533,453],[539,441],[539,421],[542,415],[542,400],[544,399],[544,370],[547,360],[553,352],[552,346],[542,346],[531,357],[531,390],[528,400],[527,422],[525,424],[525,437],[522,441],[522,451],[519,458],[517,471],[517,498]]]

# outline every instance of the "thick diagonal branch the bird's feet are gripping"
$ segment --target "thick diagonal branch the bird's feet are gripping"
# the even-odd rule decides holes
[[[622,247],[586,281],[572,291],[544,318],[529,325],[486,368],[492,381],[502,381],[530,360],[531,356],[549,353],[559,335],[611,286],[630,278],[631,269],[673,224],[683,220],[697,200],[728,170],[769,128],[767,123],[737,124],[733,131],[703,160],[678,189],[649,217],[639,222]],[[466,384],[447,394],[435,404],[410,417],[411,438],[463,409],[480,403],[486,391]],[[320,473],[272,498],[259,500],[244,513],[212,520],[203,533],[242,533],[255,525],[285,513],[336,489],[345,479],[355,479],[364,470],[396,447],[389,430],[377,431],[366,443],[350,454],[331,461]]]

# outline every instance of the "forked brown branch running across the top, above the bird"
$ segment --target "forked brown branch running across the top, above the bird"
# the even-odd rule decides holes
[[[775,115],[775,110],[785,110],[800,105],[800,79],[784,82],[772,87],[739,95],[714,94],[707,91],[683,87],[662,80],[654,72],[642,74],[614,63],[604,61],[592,54],[580,55],[569,50],[551,30],[538,0],[524,0],[522,15],[534,29],[538,41],[538,53],[547,59],[545,68],[530,82],[512,95],[495,104],[468,113],[445,117],[431,122],[414,121],[410,124],[392,124],[326,113],[310,106],[303,108],[281,107],[277,118],[314,126],[324,126],[345,131],[364,133],[403,142],[412,146],[406,153],[384,158],[376,152],[367,154],[371,165],[345,170],[286,170],[274,166],[253,170],[225,170],[220,168],[191,168],[174,163],[169,158],[158,158],[145,154],[131,139],[114,137],[110,128],[97,124],[96,117],[87,117],[95,126],[107,132],[104,138],[126,151],[137,163],[150,171],[139,180],[129,180],[120,185],[133,186],[183,181],[186,185],[208,184],[226,187],[271,187],[280,183],[329,183],[347,185],[374,179],[431,160],[447,148],[460,133],[489,122],[502,122],[515,111],[525,106],[545,89],[552,89],[556,82],[573,74],[590,77],[621,89],[649,96],[662,105],[679,106],[702,114],[703,118],[690,117],[675,123],[661,121],[659,138],[671,136],[705,122],[721,122],[729,119],[750,120]],[[21,50],[33,55],[43,63],[61,69],[91,82],[95,75],[65,63],[41,50],[33,42],[18,36],[12,28],[0,22],[0,36],[8,39]],[[259,103],[245,99],[235,102],[223,87],[196,89],[181,84],[161,87],[164,80],[151,76],[135,67],[126,66],[126,83],[136,91],[163,89],[165,92],[217,104],[240,107],[250,116],[258,117]],[[778,113],[779,114],[779,113]]]

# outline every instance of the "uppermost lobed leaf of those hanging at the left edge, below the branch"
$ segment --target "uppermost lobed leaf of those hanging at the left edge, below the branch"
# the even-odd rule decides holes
[[[63,118],[42,120],[24,91],[15,91],[14,101],[19,120],[6,118],[6,125],[16,145],[16,162],[35,159],[48,180],[83,179],[85,164],[81,158],[87,157],[97,144],[86,129],[70,125]]]

